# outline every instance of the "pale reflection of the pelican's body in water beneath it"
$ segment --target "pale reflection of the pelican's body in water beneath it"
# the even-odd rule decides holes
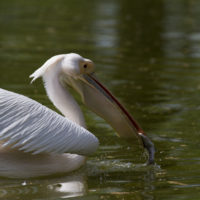
[[[1,199],[69,198],[83,196],[86,190],[85,175],[82,172],[62,178],[0,181]]]

